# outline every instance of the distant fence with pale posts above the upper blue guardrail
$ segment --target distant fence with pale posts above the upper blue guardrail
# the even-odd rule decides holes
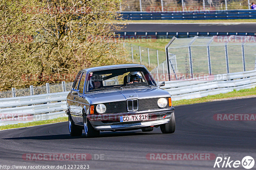
[[[175,12],[251,9],[248,0],[124,0],[120,11]]]

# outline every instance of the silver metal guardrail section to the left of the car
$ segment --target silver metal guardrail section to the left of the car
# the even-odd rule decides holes
[[[67,116],[68,93],[0,98],[0,126]]]

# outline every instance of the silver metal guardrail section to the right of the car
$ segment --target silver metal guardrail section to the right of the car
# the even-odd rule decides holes
[[[212,75],[207,79],[207,81],[166,81],[163,89],[167,90],[175,101],[227,93],[234,89],[254,88],[256,87],[256,70]]]

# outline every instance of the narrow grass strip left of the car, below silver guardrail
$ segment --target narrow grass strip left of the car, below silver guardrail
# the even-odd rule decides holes
[[[19,127],[28,127],[28,126],[35,126],[40,124],[50,124],[50,123],[56,123],[56,122],[65,122],[68,121],[68,117],[59,117],[51,120],[42,120],[42,121],[36,121],[36,122],[29,122],[29,123],[22,123],[22,124],[9,124],[0,126],[0,130],[4,129],[12,129],[12,128],[19,128]]]

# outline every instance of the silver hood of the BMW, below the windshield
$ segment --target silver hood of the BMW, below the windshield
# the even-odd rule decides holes
[[[127,99],[145,99],[170,96],[171,95],[164,89],[138,88],[97,92],[93,94],[88,94],[85,97],[90,104],[98,104],[106,102],[124,101]]]

